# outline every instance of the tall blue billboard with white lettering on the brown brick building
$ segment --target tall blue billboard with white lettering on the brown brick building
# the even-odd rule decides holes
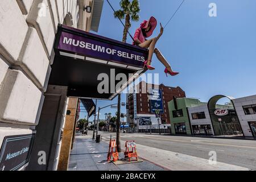
[[[150,89],[150,103],[151,113],[155,113],[155,110],[160,110],[160,114],[164,113],[162,90]]]

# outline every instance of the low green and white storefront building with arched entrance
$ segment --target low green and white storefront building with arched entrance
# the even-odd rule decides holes
[[[230,102],[217,104],[221,98],[228,98]],[[242,98],[217,95],[208,103],[177,98],[168,105],[174,134],[256,136],[256,95]]]

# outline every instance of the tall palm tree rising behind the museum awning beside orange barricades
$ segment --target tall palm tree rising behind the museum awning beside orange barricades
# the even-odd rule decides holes
[[[131,27],[131,20],[138,22],[139,20],[139,1],[138,0],[121,0],[121,9],[115,11],[114,17],[119,19],[125,19],[125,28],[123,28],[123,43],[126,43],[127,33]],[[121,110],[121,94],[118,94],[118,104],[117,104],[117,151],[121,152],[120,143],[120,110]]]

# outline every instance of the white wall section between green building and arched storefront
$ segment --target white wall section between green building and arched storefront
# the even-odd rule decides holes
[[[200,112],[204,112],[205,119],[192,119],[192,113],[200,113]],[[210,114],[209,114],[207,105],[201,105],[201,106],[188,108],[188,115],[189,115],[189,119],[191,121],[191,125],[210,125],[210,128],[212,129],[212,133],[214,135],[212,122],[210,120]]]

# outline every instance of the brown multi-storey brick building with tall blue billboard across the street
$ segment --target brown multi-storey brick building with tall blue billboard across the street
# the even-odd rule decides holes
[[[170,86],[152,85],[146,82],[140,82],[136,87],[136,91],[127,94],[127,123],[130,125],[131,131],[148,131],[150,130],[150,121],[152,132],[159,132],[158,118],[155,115],[155,105],[162,106],[162,112],[160,114],[159,123],[160,129],[170,130],[171,121],[169,115],[168,102],[175,97],[185,97],[185,92],[178,86],[173,88]],[[160,90],[160,100],[158,102],[151,101],[152,88]],[[160,107],[161,107],[160,106]],[[167,132],[167,131],[162,131]]]

